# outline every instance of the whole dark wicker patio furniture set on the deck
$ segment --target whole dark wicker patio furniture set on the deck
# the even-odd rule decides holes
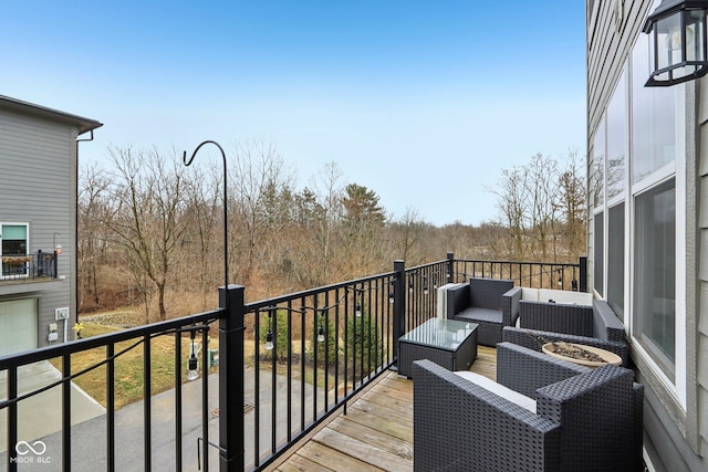
[[[644,390],[606,302],[471,279],[447,289],[444,312],[399,344],[399,373],[415,382],[415,470],[643,470]],[[559,340],[614,353],[622,366],[542,353]],[[497,381],[467,371],[477,343],[497,347]]]

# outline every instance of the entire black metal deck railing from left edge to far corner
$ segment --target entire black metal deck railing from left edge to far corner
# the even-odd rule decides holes
[[[0,375],[7,376],[8,391],[0,400],[0,412],[7,411],[8,437],[0,444],[0,460],[15,471],[18,444],[33,440],[18,433],[22,401],[59,388],[62,422],[56,433],[59,452],[52,462],[61,463],[64,470],[79,462],[110,471],[194,470],[195,465],[208,471],[215,464],[221,471],[261,470],[335,411],[346,413],[347,402],[357,392],[396,368],[397,339],[437,315],[438,289],[444,284],[472,274],[510,277],[507,274],[513,274],[513,264],[538,268],[545,277],[574,265],[511,262],[506,264],[512,269],[501,269],[501,264],[459,261],[451,253],[446,260],[410,269],[396,261],[389,273],[248,304],[244,287],[229,285],[220,289],[221,308],[214,312],[1,357]],[[575,276],[572,272],[572,280]],[[209,331],[217,321],[215,363]],[[199,358],[192,359],[197,336],[204,348]],[[158,365],[164,352],[158,354],[156,339],[171,339],[171,367]],[[116,365],[126,353],[139,348],[142,373],[131,373],[131,381],[142,382],[142,418],[134,419],[140,434],[131,438],[129,451],[117,450],[116,433],[124,424],[116,422],[116,386],[127,380],[116,374]],[[100,361],[72,367],[82,353],[92,349],[101,352]],[[61,379],[29,392],[19,391],[24,366],[55,358],[61,359]],[[192,374],[197,366],[200,381],[187,387],[185,373]],[[92,427],[100,429],[96,433],[103,434],[104,444],[77,448],[72,444],[71,384],[98,368],[105,369],[106,415],[92,420]],[[174,422],[167,429],[163,418],[153,413],[153,377],[158,371],[173,376]],[[209,371],[211,375],[206,375]],[[210,379],[218,380],[218,388]],[[196,385],[200,389],[192,388]],[[217,424],[218,431],[210,431],[210,426]]]

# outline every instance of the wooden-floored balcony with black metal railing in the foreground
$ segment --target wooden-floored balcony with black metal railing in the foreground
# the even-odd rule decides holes
[[[395,371],[396,339],[437,315],[437,289],[485,276],[582,291],[585,272],[583,261],[469,261],[454,254],[415,268],[396,261],[388,273],[253,303],[244,303],[246,287],[221,287],[219,310],[1,357],[7,395],[0,397],[0,431],[7,436],[0,436],[0,461],[15,471],[22,461],[51,453],[53,466],[65,470],[81,463],[95,470],[230,471],[277,464],[309,470],[321,458],[409,470],[413,382]],[[218,337],[210,336],[215,332]],[[170,345],[169,358],[157,339]],[[218,354],[209,348],[215,340]],[[100,353],[101,360],[81,364],[87,352]],[[125,374],[125,357],[135,352],[142,366]],[[23,389],[21,369],[51,359],[60,378]],[[493,378],[494,363],[494,349],[480,347],[472,370]],[[74,384],[94,370],[105,379],[105,398],[97,399],[105,413],[74,424]],[[171,376],[171,388],[162,394],[154,391],[158,370]],[[118,408],[117,387],[126,381],[135,381],[143,398]],[[44,402],[58,427],[24,436],[23,406],[45,395],[53,395]],[[371,447],[372,438],[383,452]],[[18,448],[32,441],[46,448],[43,457]]]

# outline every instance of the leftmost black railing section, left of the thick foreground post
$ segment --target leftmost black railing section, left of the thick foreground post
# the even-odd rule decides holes
[[[160,454],[160,468],[165,466],[181,470],[185,453],[183,449],[183,436],[186,432],[186,428],[183,428],[185,401],[181,392],[184,375],[186,373],[185,364],[187,360],[185,352],[183,350],[183,344],[190,342],[191,334],[198,334],[201,345],[207,346],[209,325],[217,321],[220,314],[222,314],[221,311],[209,312],[0,357],[0,375],[4,375],[7,381],[7,392],[0,394],[0,412],[6,412],[7,415],[7,441],[4,444],[0,444],[0,457],[4,457],[3,462],[7,464],[7,470],[17,471],[19,465],[40,463],[42,461],[50,463],[52,468],[61,468],[62,470],[71,470],[72,463],[90,464],[88,468],[95,470],[150,470],[156,464],[154,451],[162,449],[157,447],[157,440],[162,441],[162,443],[167,442],[174,444],[174,452],[169,454],[169,457]],[[155,339],[165,337],[173,340],[173,347],[169,352],[174,353],[174,381],[171,386],[175,389],[175,436],[170,438],[156,438],[153,430],[155,422],[159,419],[154,418],[152,413],[152,397],[155,394],[152,385],[153,371],[155,369],[155,366],[153,366],[153,347]],[[127,353],[134,349],[142,349],[143,371],[139,374],[129,373],[129,380],[117,377],[116,366],[123,361]],[[79,360],[79,356],[91,350],[100,350],[103,359],[88,367],[74,369],[72,365]],[[208,366],[207,355],[208,350],[202,349],[202,369],[204,366]],[[20,391],[20,381],[29,375],[28,371],[32,368],[32,365],[35,363],[46,363],[52,359],[55,364],[59,364],[58,368],[61,371],[61,378],[30,391]],[[91,431],[90,437],[105,438],[105,440],[96,441],[96,443],[91,443],[90,447],[87,447],[85,443],[75,444],[72,441],[72,398],[75,395],[82,395],[72,389],[72,382],[95,369],[105,369],[105,398],[101,399],[104,400],[105,403],[105,416],[92,422],[94,430]],[[209,376],[206,375],[201,376],[202,399],[208,398],[209,395],[208,377]],[[139,419],[139,424],[137,424],[137,429],[142,431],[142,438],[131,438],[134,442],[131,442],[129,451],[117,450],[116,444],[116,434],[122,428],[122,426],[116,424],[116,389],[124,382],[142,384],[139,388],[142,388],[143,391],[143,415]],[[23,418],[23,415],[29,413],[27,409],[25,411],[21,411],[20,407],[23,401],[43,394],[46,395],[45,392],[50,390],[54,391],[61,399],[60,403],[54,405],[54,408],[61,411],[59,432],[48,438],[42,438],[41,455],[27,455],[28,451],[20,449],[19,444],[35,444],[33,451],[37,451],[39,447],[37,447],[35,441],[39,440],[39,438],[21,438],[19,436],[18,427],[22,421],[27,420],[27,417]],[[42,401],[44,401],[44,398],[42,398]],[[208,418],[208,402],[201,401],[202,418]],[[45,420],[50,421],[49,418]],[[160,432],[162,431],[164,431],[164,429],[160,428]],[[199,431],[200,438],[204,439],[202,453],[206,454],[209,444],[208,422],[202,421]],[[140,442],[142,448],[138,445]],[[195,445],[196,443],[195,441]],[[195,450],[196,448],[189,448],[190,455],[195,455]],[[191,469],[191,464],[188,469]],[[207,469],[205,468],[205,470]]]

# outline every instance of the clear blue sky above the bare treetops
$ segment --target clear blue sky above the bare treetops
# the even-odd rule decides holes
[[[82,162],[264,141],[478,224],[501,169],[585,154],[584,36],[582,1],[8,1],[0,94],[104,123]]]

